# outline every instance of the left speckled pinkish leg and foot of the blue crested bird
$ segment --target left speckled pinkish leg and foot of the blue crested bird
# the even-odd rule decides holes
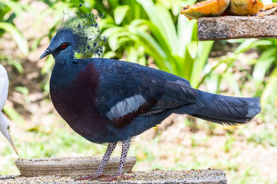
[[[102,178],[105,177],[102,175],[103,171],[105,170],[105,167],[107,165],[107,162],[109,161],[109,157],[111,156],[111,153],[114,151],[114,148],[116,148],[116,143],[109,143],[107,150],[101,160],[100,165],[98,166],[96,173],[91,175],[91,176],[87,176],[84,178],[78,178],[77,180],[89,180],[89,179],[97,179],[97,178]]]

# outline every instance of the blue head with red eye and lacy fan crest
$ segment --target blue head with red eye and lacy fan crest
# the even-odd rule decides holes
[[[78,11],[74,16],[62,21],[57,34],[39,59],[48,54],[52,54],[56,62],[68,61],[74,58],[76,53],[102,56],[102,45],[107,39],[101,36],[96,19],[98,17],[93,14],[84,15]]]

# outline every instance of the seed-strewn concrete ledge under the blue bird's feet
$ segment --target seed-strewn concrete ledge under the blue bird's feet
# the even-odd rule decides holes
[[[190,170],[190,171],[162,171],[152,170],[147,172],[125,173],[130,176],[128,180],[101,183],[186,183],[186,184],[226,184],[226,175],[222,170]],[[78,176],[14,176],[1,180],[0,183],[100,183],[100,181],[75,181]]]

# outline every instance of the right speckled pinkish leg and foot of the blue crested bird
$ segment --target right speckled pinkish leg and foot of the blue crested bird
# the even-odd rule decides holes
[[[130,143],[131,143],[131,139],[127,139],[126,141],[122,141],[122,152],[121,152],[120,163],[119,163],[119,166],[118,166],[116,176],[112,176],[112,177],[109,177],[109,178],[103,178],[102,181],[114,181],[114,180],[118,179],[117,176],[119,176],[119,178],[128,179],[128,177],[125,177],[123,175],[123,169],[124,169],[124,165],[125,165],[125,161],[126,161],[126,157],[127,157],[127,153],[128,153],[128,150],[129,150]]]

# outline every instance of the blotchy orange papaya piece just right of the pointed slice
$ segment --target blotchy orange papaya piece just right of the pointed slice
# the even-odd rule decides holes
[[[263,6],[263,3],[258,0],[230,0],[226,11],[234,15],[253,15],[257,14]]]

